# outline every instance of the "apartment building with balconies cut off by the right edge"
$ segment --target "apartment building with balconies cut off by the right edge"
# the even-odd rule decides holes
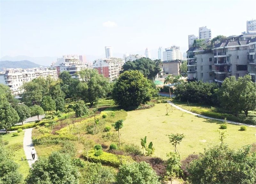
[[[256,38],[253,38],[249,43],[249,54],[248,54],[248,67],[247,72],[252,76],[252,81],[256,83]]]

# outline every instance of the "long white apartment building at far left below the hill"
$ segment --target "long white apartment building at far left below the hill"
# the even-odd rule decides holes
[[[31,68],[31,69],[7,69],[4,74],[0,75],[0,83],[8,85],[13,94],[22,93],[21,86],[37,77],[51,76],[57,80],[57,70],[48,68]]]

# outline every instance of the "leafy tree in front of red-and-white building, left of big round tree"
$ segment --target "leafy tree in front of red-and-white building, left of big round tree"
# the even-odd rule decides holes
[[[85,69],[78,72],[82,82],[77,87],[77,95],[89,102],[91,106],[99,98],[105,97],[109,92],[109,81],[103,75],[100,75],[95,69]]]

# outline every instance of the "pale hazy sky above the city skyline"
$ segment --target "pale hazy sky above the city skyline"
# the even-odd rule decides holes
[[[239,35],[256,1],[2,1],[1,57],[134,53],[173,44],[207,26],[212,37]],[[156,52],[152,57],[156,57]]]

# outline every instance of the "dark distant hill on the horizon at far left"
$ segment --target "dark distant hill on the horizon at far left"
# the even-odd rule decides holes
[[[0,61],[0,70],[3,68],[39,68],[41,65],[28,60],[23,61]]]

